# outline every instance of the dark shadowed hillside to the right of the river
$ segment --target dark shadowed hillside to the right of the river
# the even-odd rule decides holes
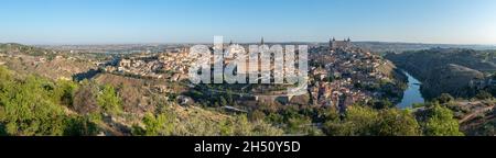
[[[496,71],[494,52],[432,48],[401,54],[388,54],[386,58],[422,81],[422,93],[435,98],[441,93],[454,97],[473,97],[490,84],[475,88],[474,82],[486,82]]]

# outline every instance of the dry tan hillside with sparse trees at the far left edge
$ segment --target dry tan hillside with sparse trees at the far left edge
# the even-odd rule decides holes
[[[73,80],[79,74],[98,69],[93,57],[20,44],[0,44],[0,65],[20,75],[34,74],[53,80]]]

